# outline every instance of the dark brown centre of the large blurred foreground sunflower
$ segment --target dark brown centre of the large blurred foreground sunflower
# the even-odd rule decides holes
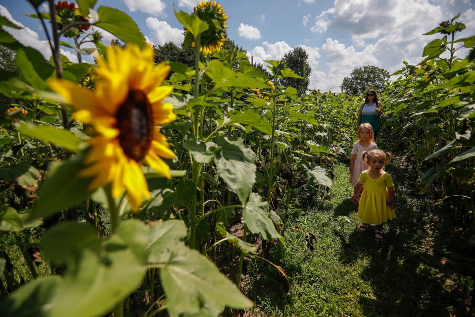
[[[119,143],[127,157],[141,161],[148,152],[153,133],[152,106],[141,91],[130,91],[115,118]]]

